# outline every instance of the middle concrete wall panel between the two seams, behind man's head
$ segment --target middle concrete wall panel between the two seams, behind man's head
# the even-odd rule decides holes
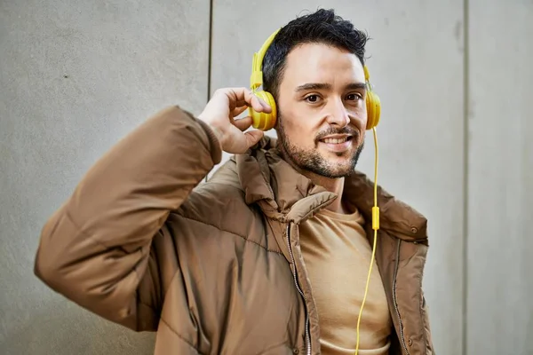
[[[253,51],[259,50],[275,28],[318,7],[337,9],[372,38],[367,63],[383,106],[378,126],[378,181],[430,220],[424,284],[434,342],[437,353],[460,354],[463,3],[217,1],[211,89],[248,86]],[[251,13],[270,20],[256,20],[249,17]],[[360,164],[369,174],[373,174],[374,159],[371,136],[369,132]]]

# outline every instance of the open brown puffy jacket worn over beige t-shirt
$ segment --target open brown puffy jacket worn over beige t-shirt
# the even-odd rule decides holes
[[[155,114],[44,225],[36,275],[106,319],[157,331],[156,355],[319,354],[298,225],[337,196],[291,169],[271,138],[202,182],[220,160],[203,122],[179,107]],[[372,187],[361,173],[346,178],[344,197],[367,220]],[[433,354],[421,288],[426,219],[378,193],[390,353]]]

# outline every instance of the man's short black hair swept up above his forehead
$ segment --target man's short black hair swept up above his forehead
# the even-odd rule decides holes
[[[274,38],[263,59],[263,89],[278,97],[287,56],[303,43],[324,43],[354,53],[364,66],[366,33],[335,14],[333,9],[316,12],[291,20]]]

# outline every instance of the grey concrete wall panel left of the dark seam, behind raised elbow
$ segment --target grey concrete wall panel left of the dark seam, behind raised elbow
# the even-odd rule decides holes
[[[33,274],[40,228],[115,141],[207,99],[209,1],[0,1],[0,353],[151,354]]]

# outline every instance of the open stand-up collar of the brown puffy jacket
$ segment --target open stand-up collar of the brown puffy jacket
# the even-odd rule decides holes
[[[281,222],[301,223],[328,206],[338,196],[294,170],[276,148],[276,139],[265,136],[247,154],[235,157],[236,172],[246,203],[257,203],[265,215]],[[374,185],[355,170],[345,178],[344,198],[371,220]],[[426,217],[378,186],[380,228],[408,241],[427,238]]]

